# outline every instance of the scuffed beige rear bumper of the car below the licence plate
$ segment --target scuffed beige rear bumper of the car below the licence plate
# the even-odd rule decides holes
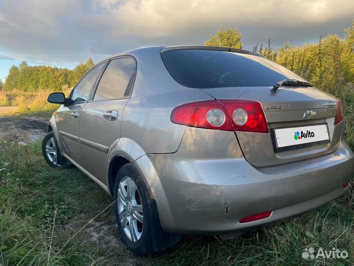
[[[236,145],[230,141],[224,142]],[[232,154],[234,158],[198,159],[192,154],[192,160],[177,151],[146,155],[134,163],[156,200],[166,232],[230,233],[295,216],[342,195],[342,185],[354,172],[354,155],[344,141],[331,154],[280,166],[255,168],[243,157],[235,158],[237,151]],[[238,222],[269,210],[269,218]]]

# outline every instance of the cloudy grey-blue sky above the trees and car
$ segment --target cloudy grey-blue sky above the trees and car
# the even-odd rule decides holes
[[[148,45],[204,44],[238,27],[244,49],[317,42],[354,19],[353,0],[0,0],[0,78],[29,65],[72,68]]]

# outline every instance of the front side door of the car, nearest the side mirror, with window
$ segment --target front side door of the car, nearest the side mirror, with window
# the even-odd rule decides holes
[[[80,166],[83,166],[79,144],[81,110],[89,100],[92,86],[104,65],[101,63],[86,73],[70,93],[68,104],[59,111],[59,139],[62,153]]]

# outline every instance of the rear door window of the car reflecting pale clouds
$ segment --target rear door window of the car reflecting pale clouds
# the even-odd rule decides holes
[[[131,58],[112,60],[104,71],[93,100],[124,98],[128,87],[132,86],[135,61]]]

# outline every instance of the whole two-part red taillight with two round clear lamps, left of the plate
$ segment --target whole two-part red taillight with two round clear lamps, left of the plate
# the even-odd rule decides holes
[[[196,128],[268,133],[262,106],[252,100],[206,100],[172,110],[171,121]]]

